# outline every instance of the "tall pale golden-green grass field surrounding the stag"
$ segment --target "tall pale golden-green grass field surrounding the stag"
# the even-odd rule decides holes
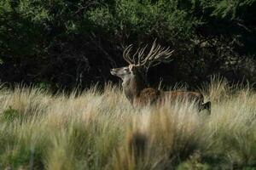
[[[78,95],[0,88],[0,169],[253,169],[256,93],[214,79],[212,114],[176,103],[135,110],[106,85]]]

